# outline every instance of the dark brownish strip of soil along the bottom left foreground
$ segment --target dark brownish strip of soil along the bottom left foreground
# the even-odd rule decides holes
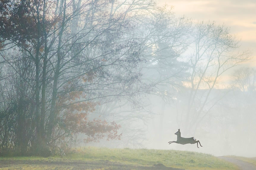
[[[153,166],[139,166],[112,162],[108,160],[78,161],[78,160],[0,160],[0,169],[60,169],[60,170],[84,170],[84,169],[109,169],[109,170],[184,170],[164,166],[159,163]]]

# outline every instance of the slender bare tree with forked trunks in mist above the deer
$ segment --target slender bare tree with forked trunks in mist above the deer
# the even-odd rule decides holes
[[[230,68],[250,59],[251,52],[238,52],[240,41],[229,33],[224,25],[214,22],[199,22],[192,34],[189,57],[190,76],[185,86],[188,89],[184,126],[186,131],[196,129],[209,114],[211,108],[223,96],[210,97],[213,89],[220,85],[221,76]],[[220,87],[219,87],[220,88]]]

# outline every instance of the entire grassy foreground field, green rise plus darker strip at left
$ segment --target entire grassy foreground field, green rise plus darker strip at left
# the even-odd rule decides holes
[[[86,148],[65,157],[1,157],[0,170],[138,169],[236,170],[209,154],[175,150]]]

